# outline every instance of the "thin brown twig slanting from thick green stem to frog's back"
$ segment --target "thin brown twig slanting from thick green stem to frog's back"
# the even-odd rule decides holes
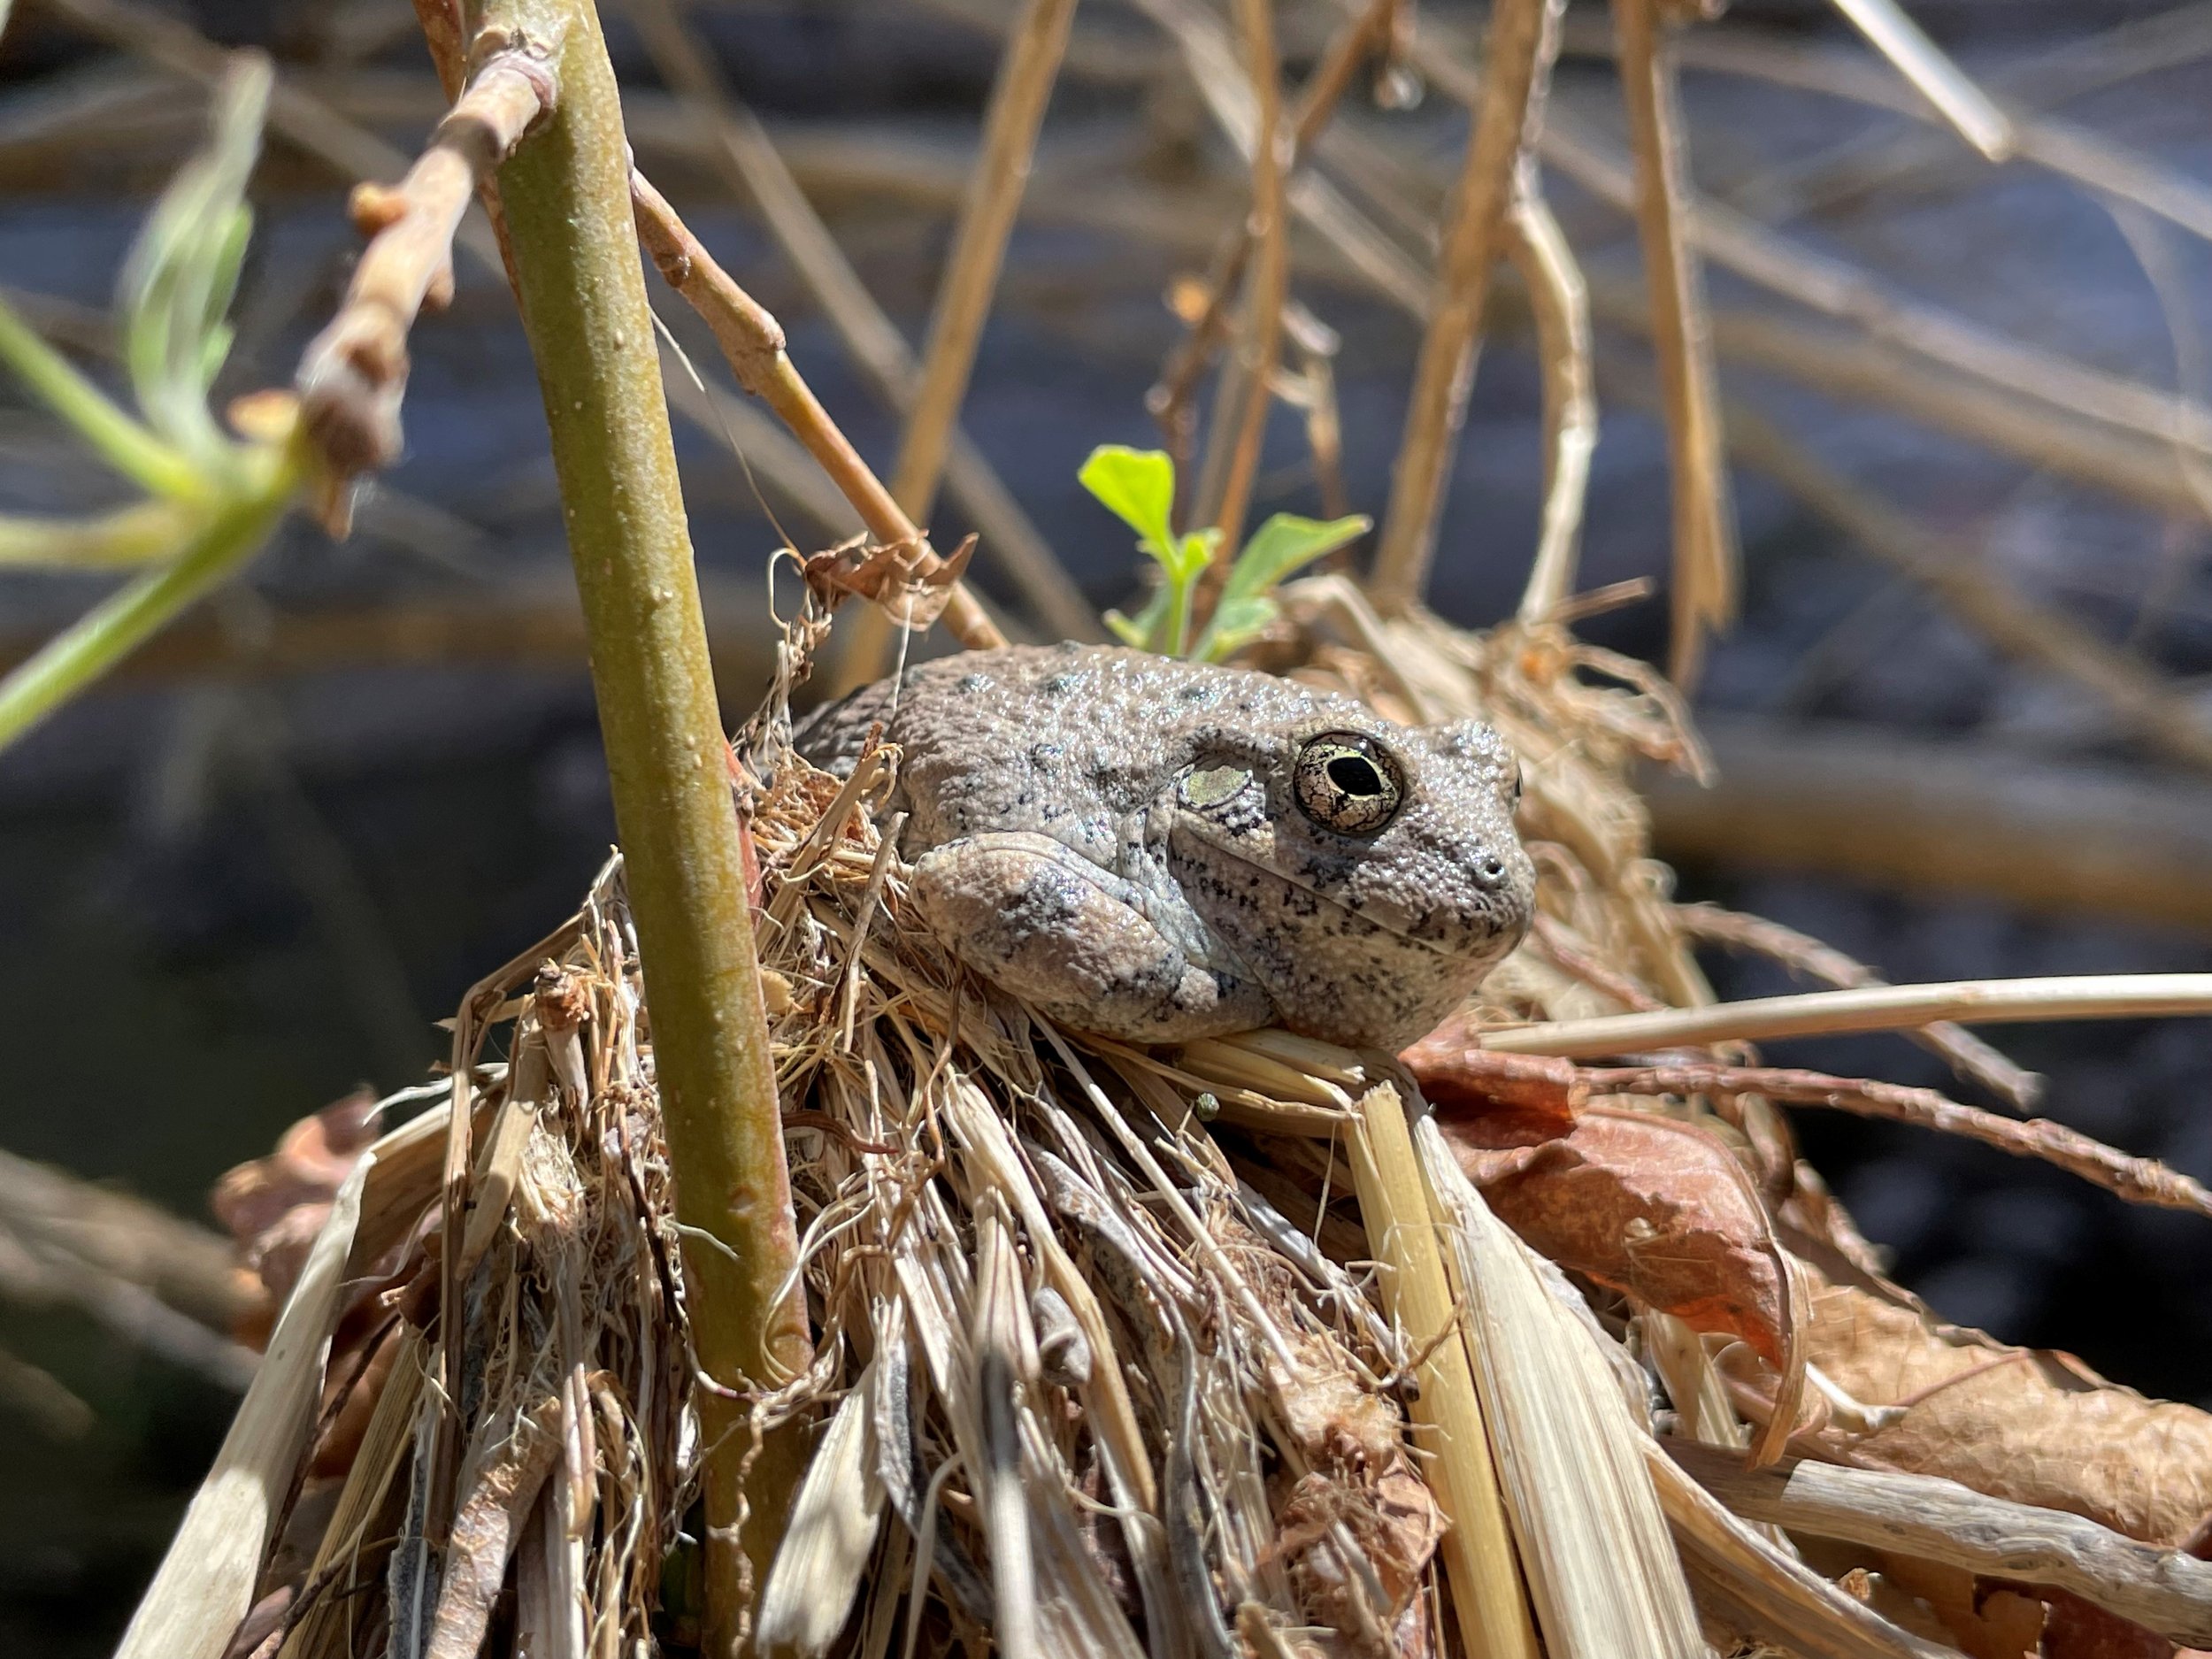
[[[637,237],[655,268],[714,330],[714,341],[737,376],[737,383],[761,398],[821,462],[845,500],[860,513],[885,546],[911,549],[909,575],[929,577],[942,560],[914,526],[883,480],[860,460],[860,451],[821,407],[783,349],[783,325],[726,272],[677,217],[668,199],[637,170],[630,173],[630,204],[637,210]],[[1006,644],[1006,635],[975,604],[975,595],[953,584],[945,606],[945,626],[971,650]]]

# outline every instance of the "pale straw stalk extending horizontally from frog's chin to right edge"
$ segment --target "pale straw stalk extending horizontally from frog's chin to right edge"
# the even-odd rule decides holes
[[[2212,973],[2062,973],[2037,980],[1949,980],[1807,991],[1792,998],[1714,1002],[1703,1009],[1540,1020],[1482,1031],[1502,1055],[1635,1055],[1708,1042],[1820,1037],[1840,1031],[1900,1031],[1938,1020],[2020,1024],[2031,1020],[2139,1020],[2212,1015]]]

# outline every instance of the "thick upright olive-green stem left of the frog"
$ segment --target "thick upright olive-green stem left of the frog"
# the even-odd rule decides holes
[[[622,104],[591,4],[524,0],[487,7],[484,22],[562,42],[555,113],[500,170],[500,199],[584,602],[688,1230],[692,1340],[721,1387],[765,1387],[805,1369],[810,1336],[805,1307],[783,1294],[799,1254],[783,1126]],[[701,1391],[699,1416],[708,1652],[728,1655],[805,1449],[796,1429],[770,1433],[748,1469],[745,1402]]]

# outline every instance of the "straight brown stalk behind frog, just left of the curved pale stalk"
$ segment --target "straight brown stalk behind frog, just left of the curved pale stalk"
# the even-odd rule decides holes
[[[1436,522],[1451,482],[1467,394],[1482,343],[1482,307],[1522,148],[1542,124],[1544,82],[1559,46],[1564,0],[1498,0],[1482,46],[1482,100],[1467,135],[1467,164],[1451,197],[1444,257],[1429,330],[1413,365],[1405,434],[1391,469],[1383,542],[1369,595],[1383,615],[1405,615],[1429,584]]]

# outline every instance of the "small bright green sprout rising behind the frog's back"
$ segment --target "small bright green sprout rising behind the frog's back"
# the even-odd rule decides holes
[[[1106,613],[1106,626],[1124,644],[1161,657],[1221,661],[1252,644],[1281,606],[1279,588],[1294,573],[1334,553],[1345,542],[1365,535],[1371,520],[1318,520],[1276,513],[1261,524],[1243,551],[1230,562],[1228,580],[1214,599],[1214,613],[1197,641],[1190,639],[1192,599],[1199,577],[1221,544],[1221,531],[1175,533],[1175,462],[1157,449],[1099,445],[1091,451],[1077,480],[1104,502],[1115,518],[1137,531],[1137,546],[1159,566],[1159,584],[1135,617]]]

